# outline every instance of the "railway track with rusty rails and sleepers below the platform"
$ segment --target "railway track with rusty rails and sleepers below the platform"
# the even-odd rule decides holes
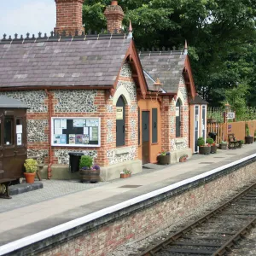
[[[224,255],[256,225],[256,183],[137,256]]]

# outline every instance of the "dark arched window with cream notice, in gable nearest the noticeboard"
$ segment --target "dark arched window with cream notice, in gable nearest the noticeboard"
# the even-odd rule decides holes
[[[125,146],[125,101],[119,96],[116,102],[116,146]]]

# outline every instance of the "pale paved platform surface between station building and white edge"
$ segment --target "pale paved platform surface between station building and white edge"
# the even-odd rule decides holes
[[[254,154],[255,149],[253,143],[236,151],[194,155],[187,162],[161,169],[150,165],[150,169],[143,168],[143,173],[106,183],[44,180],[43,189],[14,195],[9,201],[0,199],[0,245],[195,177]]]

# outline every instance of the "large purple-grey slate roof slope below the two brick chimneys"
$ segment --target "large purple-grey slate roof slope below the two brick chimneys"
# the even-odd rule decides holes
[[[2,40],[0,87],[113,85],[130,43],[124,34]]]

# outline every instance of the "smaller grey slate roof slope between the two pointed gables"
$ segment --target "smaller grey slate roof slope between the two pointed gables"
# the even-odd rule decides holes
[[[142,52],[140,53],[140,60],[143,70],[154,80],[159,78],[161,84],[163,84],[162,88],[166,92],[177,93],[186,56],[178,50]]]

